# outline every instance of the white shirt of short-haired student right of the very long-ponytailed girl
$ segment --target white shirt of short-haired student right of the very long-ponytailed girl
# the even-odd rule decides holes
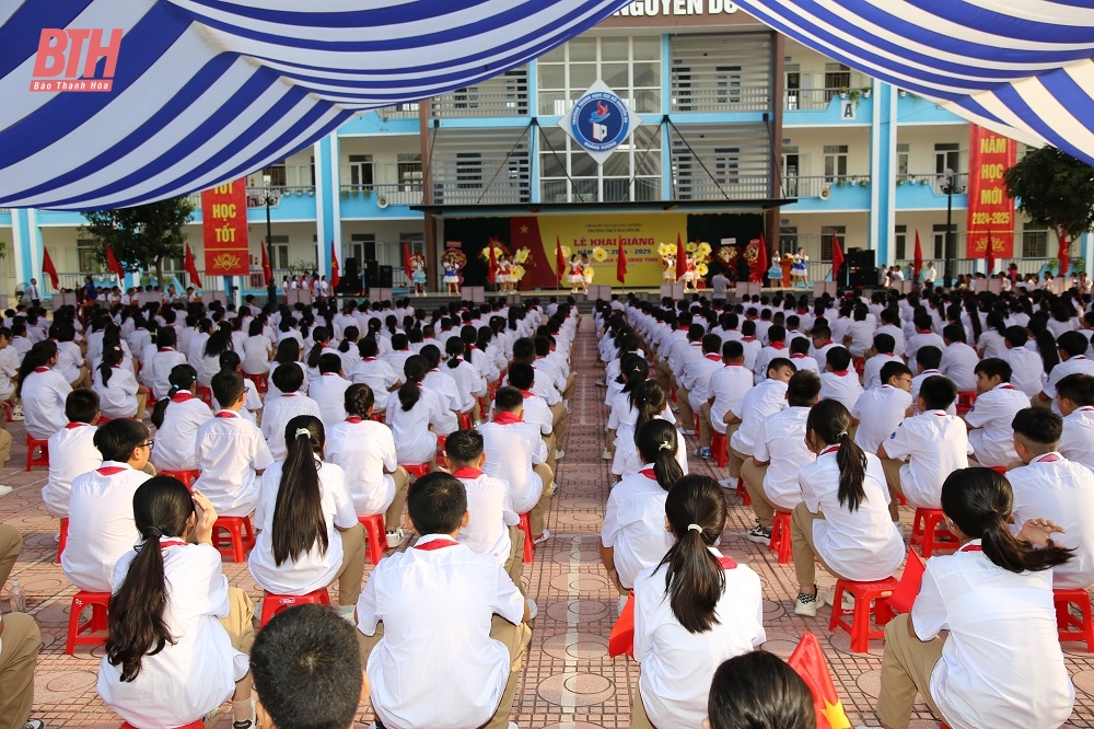
[[[336,423],[327,430],[324,453],[346,472],[346,489],[359,517],[383,513],[395,500],[395,479],[388,474],[398,467],[398,456],[386,425],[357,416]]]

